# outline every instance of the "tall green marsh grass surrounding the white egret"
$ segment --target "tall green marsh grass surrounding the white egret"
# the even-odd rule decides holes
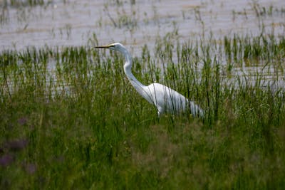
[[[203,119],[158,118],[115,52],[1,52],[0,189],[283,189],[284,93],[239,77],[226,85],[222,71],[224,55],[234,66],[259,59],[282,68],[284,38],[260,40],[224,38],[213,50],[165,38],[161,66],[146,46],[134,58],[138,80],[195,100]]]

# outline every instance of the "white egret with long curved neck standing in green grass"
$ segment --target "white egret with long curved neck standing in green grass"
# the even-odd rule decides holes
[[[133,85],[135,90],[145,98],[148,102],[155,105],[158,110],[158,115],[167,112],[171,114],[179,114],[189,110],[193,116],[204,116],[204,111],[196,105],[195,102],[187,100],[186,97],[177,93],[171,88],[159,83],[152,83],[148,86],[142,85],[133,75],[132,58],[128,50],[121,43],[111,43],[107,46],[96,46],[95,48],[108,48],[110,50],[120,51],[125,56],[124,71],[128,80]]]

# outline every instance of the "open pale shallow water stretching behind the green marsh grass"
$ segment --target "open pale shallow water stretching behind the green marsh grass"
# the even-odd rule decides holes
[[[6,20],[1,22],[0,50],[82,46],[95,33],[100,44],[119,41],[138,53],[143,44],[153,47],[157,36],[165,36],[174,28],[181,41],[234,33],[257,36],[262,25],[266,33],[276,36],[285,31],[283,0],[131,2],[58,0],[47,6],[2,8]],[[266,13],[258,15],[264,9]]]

